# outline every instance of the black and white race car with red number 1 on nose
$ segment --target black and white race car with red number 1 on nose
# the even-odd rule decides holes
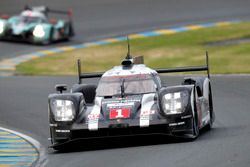
[[[143,60],[143,59],[140,59]],[[139,62],[139,63],[138,63]],[[81,73],[70,93],[56,85],[50,94],[49,122],[52,147],[74,139],[134,135],[172,135],[195,139],[201,128],[210,129],[215,116],[207,65],[150,69],[129,54],[105,73]],[[207,71],[207,77],[190,76],[180,85],[163,86],[159,73]],[[97,85],[83,78],[101,77]]]

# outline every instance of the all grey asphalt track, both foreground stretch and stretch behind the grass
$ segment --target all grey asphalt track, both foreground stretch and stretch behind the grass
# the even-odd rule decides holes
[[[40,1],[52,8],[74,11],[77,36],[68,43],[87,42],[144,30],[231,19],[250,19],[246,0],[88,0]],[[39,1],[1,0],[0,11],[16,13],[24,4]],[[46,47],[47,48],[47,47]],[[21,43],[0,42],[0,58],[44,49]],[[164,77],[168,85],[179,77]],[[72,85],[76,77],[0,78],[0,124],[23,132],[47,147],[49,141],[47,96],[56,83]],[[96,83],[96,80],[85,82]],[[53,152],[47,166],[250,166],[250,77],[212,77],[215,126],[194,142],[145,138],[76,143],[80,149]]]

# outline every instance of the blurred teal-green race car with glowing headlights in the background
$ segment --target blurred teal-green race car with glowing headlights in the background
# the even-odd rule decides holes
[[[49,13],[68,15],[67,20],[52,19]],[[47,7],[25,7],[18,16],[0,17],[0,40],[49,44],[74,36],[71,11],[50,10]]]

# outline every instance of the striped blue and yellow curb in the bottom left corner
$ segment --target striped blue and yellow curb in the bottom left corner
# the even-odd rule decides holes
[[[0,167],[43,167],[47,163],[45,149],[35,139],[0,127]]]

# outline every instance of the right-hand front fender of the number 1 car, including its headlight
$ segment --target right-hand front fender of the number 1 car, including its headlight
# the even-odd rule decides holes
[[[194,85],[172,86],[160,90],[159,106],[169,122],[172,135],[190,139],[198,136],[196,94]]]

